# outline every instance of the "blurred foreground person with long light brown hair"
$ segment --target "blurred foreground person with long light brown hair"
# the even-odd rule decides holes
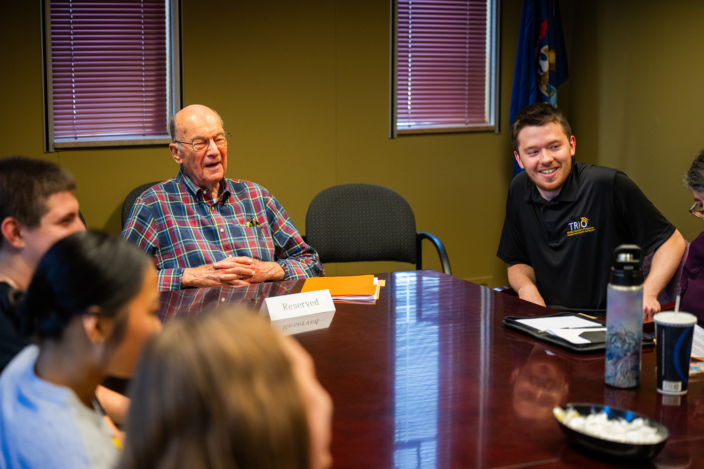
[[[332,401],[310,355],[248,311],[175,321],[144,349],[120,469],[325,469]]]

